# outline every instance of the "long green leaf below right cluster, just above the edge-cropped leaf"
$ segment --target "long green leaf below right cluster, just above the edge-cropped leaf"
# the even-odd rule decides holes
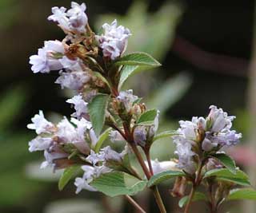
[[[236,174],[230,172],[230,170],[227,168],[213,169],[206,172],[203,178],[208,178],[211,176],[215,176],[220,181],[228,181],[242,186],[250,186],[250,180],[246,173],[238,169]]]

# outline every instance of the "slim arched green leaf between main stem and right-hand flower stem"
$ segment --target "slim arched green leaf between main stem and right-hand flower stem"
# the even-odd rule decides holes
[[[158,173],[154,176],[152,176],[147,183],[148,187],[153,187],[154,185],[158,185],[159,183],[162,183],[162,181],[165,181],[167,179],[171,179],[178,176],[186,176],[184,172],[180,171],[166,171]]]

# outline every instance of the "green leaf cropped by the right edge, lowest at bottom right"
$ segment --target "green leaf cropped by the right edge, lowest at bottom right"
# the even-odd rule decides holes
[[[256,191],[253,188],[235,188],[230,191],[227,199],[256,199]]]

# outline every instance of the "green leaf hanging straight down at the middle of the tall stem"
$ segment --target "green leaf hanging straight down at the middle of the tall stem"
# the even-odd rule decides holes
[[[106,107],[109,101],[109,96],[106,94],[98,94],[89,103],[90,120],[93,124],[94,131],[97,135],[102,131],[105,123]]]

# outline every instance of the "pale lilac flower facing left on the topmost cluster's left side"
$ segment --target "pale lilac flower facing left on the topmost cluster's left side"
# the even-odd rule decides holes
[[[61,41],[45,41],[42,49],[38,49],[38,55],[30,56],[30,64],[33,73],[49,73],[50,70],[62,69],[62,64],[54,54],[64,54]]]

